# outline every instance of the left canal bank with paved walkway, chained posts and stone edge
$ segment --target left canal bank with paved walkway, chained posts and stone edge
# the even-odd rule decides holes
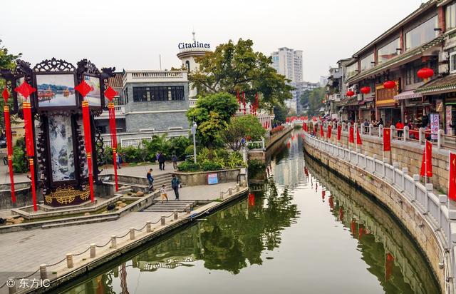
[[[83,275],[88,270],[98,268],[129,250],[170,233],[200,216],[217,211],[243,196],[247,189],[246,186],[236,186],[235,182],[182,188],[182,201],[195,198],[199,203],[199,206],[190,213],[177,213],[172,209],[160,212],[133,212],[110,222],[2,234],[0,250],[3,254],[0,265],[9,272],[3,273],[7,276],[1,277],[0,285],[3,285],[10,276],[21,278],[31,275],[30,278],[43,278],[43,275],[46,275],[46,278],[51,280],[49,287],[24,290],[18,286],[16,290],[18,293],[43,293],[57,288],[58,285]],[[115,238],[112,238],[113,236]],[[30,248],[41,249],[33,253],[33,258],[18,258],[28,255]],[[68,253],[70,254],[67,258]],[[68,268],[71,261],[73,266]],[[45,269],[43,263],[47,264]],[[8,292],[9,288],[6,285],[0,288],[0,293]]]

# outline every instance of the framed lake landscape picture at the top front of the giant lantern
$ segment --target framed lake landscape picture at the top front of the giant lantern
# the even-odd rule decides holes
[[[38,107],[76,106],[73,74],[37,74]]]

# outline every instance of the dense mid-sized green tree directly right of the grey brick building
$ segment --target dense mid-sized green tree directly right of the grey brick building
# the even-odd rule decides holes
[[[187,118],[198,125],[197,138],[199,143],[210,150],[219,141],[219,132],[227,127],[229,120],[236,113],[236,98],[229,93],[212,93],[199,96],[197,105],[187,111]]]

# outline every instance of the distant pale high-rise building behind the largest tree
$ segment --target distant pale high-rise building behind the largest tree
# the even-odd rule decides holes
[[[282,47],[279,51],[272,52],[271,56],[272,67],[279,74],[289,78],[293,83],[303,80],[302,50]]]

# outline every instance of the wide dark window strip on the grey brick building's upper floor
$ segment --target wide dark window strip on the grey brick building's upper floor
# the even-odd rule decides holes
[[[133,87],[133,101],[183,101],[184,86]]]

